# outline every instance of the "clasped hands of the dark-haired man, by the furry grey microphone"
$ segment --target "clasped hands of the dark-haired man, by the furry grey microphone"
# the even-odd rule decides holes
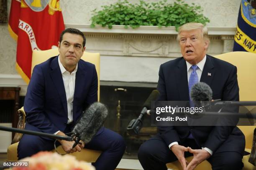
[[[57,135],[66,136],[63,132],[59,132],[57,133]],[[58,140],[58,141],[59,143],[61,143],[61,146],[66,153],[74,153],[77,151],[81,152],[82,148],[84,148],[84,142],[82,140],[79,141],[82,143],[82,145],[78,144],[76,145],[75,148],[72,148],[75,143],[74,141],[67,141],[67,140]]]

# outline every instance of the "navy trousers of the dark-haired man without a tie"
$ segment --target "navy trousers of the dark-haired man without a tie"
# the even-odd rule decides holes
[[[26,129],[38,131],[37,128],[29,124],[26,124]],[[64,130],[64,133],[67,132],[70,132],[69,128]],[[102,151],[97,161],[92,163],[97,170],[115,170],[123,156],[125,147],[125,141],[121,135],[104,127],[97,132],[90,143],[84,146],[87,149]],[[39,151],[53,149],[54,140],[24,134],[18,145],[18,158],[26,158]]]

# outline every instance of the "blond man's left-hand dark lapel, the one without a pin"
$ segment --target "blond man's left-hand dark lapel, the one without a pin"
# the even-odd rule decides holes
[[[187,64],[182,58],[175,69],[176,84],[179,89],[180,100],[189,101],[189,90],[187,82]]]

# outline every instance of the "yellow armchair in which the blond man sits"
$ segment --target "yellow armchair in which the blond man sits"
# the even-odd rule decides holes
[[[228,52],[216,55],[216,58],[230,62],[237,67],[240,101],[256,101],[256,54],[252,52]],[[254,126],[238,126],[246,138],[246,151],[250,155],[243,156],[243,170],[256,169],[256,122]],[[192,156],[186,158],[188,162]],[[179,161],[167,163],[166,166],[173,170],[182,170]],[[206,160],[200,163],[196,170],[210,170],[211,165]]]

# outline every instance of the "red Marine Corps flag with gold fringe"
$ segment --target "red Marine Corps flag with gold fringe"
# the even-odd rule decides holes
[[[64,30],[59,0],[12,0],[8,29],[17,41],[16,69],[28,83],[32,50],[57,47]]]

